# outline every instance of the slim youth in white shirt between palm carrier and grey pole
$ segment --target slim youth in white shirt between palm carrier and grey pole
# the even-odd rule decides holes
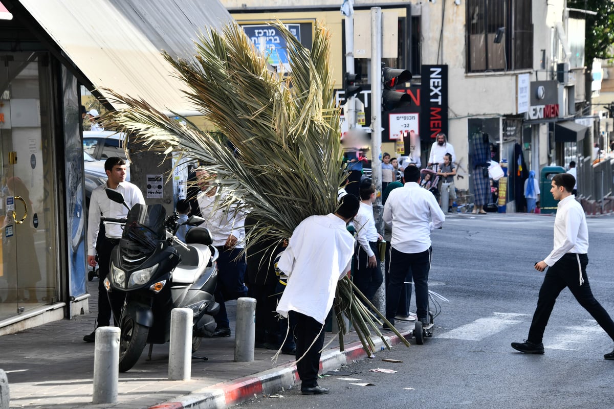
[[[382,240],[382,237],[375,228],[373,217],[375,186],[371,183],[360,186],[360,199],[360,208],[354,217],[358,258],[352,280],[360,292],[373,301],[375,292],[384,281],[378,250],[378,242]]]

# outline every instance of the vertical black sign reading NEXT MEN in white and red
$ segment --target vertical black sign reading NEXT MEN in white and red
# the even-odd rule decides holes
[[[421,131],[428,139],[448,134],[448,66],[422,66]]]

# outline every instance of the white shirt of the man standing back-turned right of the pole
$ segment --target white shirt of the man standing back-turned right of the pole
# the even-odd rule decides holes
[[[391,246],[406,254],[429,250],[430,232],[445,220],[435,196],[416,182],[391,191],[384,205],[384,223],[392,226]]]

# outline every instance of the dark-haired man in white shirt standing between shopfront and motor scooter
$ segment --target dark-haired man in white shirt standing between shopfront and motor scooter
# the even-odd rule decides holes
[[[111,304],[104,288],[104,278],[109,273],[111,250],[119,243],[123,232],[119,224],[109,223],[104,225],[104,235],[98,238],[100,216],[111,218],[128,216],[128,209],[123,204],[111,201],[104,189],[111,188],[122,193],[130,208],[137,203],[145,204],[141,189],[126,182],[126,162],[122,158],[112,156],[107,159],[104,162],[104,171],[108,177],[107,183],[91,192],[87,221],[87,264],[91,267],[96,266],[96,250],[98,250],[98,318],[96,319],[98,327],[108,327],[111,321]],[[95,339],[95,331],[83,337],[85,342],[94,342]]]

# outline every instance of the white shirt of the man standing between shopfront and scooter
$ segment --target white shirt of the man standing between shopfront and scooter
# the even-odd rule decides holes
[[[107,193],[104,191],[107,187],[107,183],[104,183],[104,185],[97,186],[91,192],[87,221],[88,256],[95,256],[96,254],[96,239],[98,239],[98,229],[100,227],[100,213],[103,213],[104,217],[111,218],[125,218],[128,216],[128,209],[123,204],[116,203],[107,197]],[[123,199],[130,208],[137,203],[145,204],[141,189],[130,182],[120,183],[115,190],[123,194]],[[106,223],[104,225],[104,230],[106,232],[106,237],[109,237],[109,239],[120,239],[122,237],[123,229],[119,224]]]

